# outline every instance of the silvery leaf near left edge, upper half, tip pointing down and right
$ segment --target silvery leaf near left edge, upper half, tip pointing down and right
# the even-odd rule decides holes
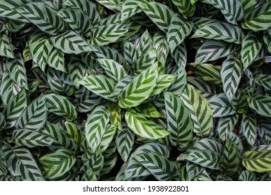
[[[6,69],[10,72],[10,78],[21,88],[28,89],[26,68],[22,54],[15,54],[16,59],[8,59]]]

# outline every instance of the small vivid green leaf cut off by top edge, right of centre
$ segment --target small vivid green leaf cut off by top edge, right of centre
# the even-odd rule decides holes
[[[191,3],[190,0],[172,0],[172,3],[174,3],[174,5],[178,8],[179,13],[186,18],[192,17],[195,14],[196,5]]]

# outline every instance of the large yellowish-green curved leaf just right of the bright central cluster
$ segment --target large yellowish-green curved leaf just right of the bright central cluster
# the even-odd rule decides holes
[[[210,104],[197,89],[187,84],[181,94],[181,100],[188,107],[194,122],[194,132],[198,136],[207,137],[213,129],[213,114]]]

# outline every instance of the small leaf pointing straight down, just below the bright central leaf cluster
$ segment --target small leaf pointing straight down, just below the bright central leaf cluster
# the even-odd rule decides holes
[[[116,145],[117,152],[122,157],[122,160],[126,162],[130,156],[131,150],[133,148],[133,143],[135,139],[135,134],[129,128],[124,128],[122,131],[117,131]]]

